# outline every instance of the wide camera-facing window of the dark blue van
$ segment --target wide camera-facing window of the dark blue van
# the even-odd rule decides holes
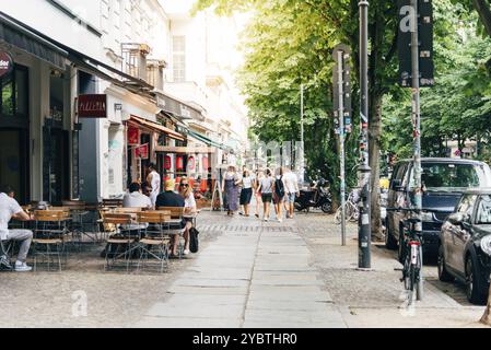
[[[423,163],[422,170],[421,180],[428,189],[479,187],[487,183],[483,168],[475,164]],[[410,186],[414,187],[412,176]]]

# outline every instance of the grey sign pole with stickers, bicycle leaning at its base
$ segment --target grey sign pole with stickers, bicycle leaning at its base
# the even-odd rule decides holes
[[[419,74],[419,37],[418,37],[418,0],[411,0],[413,19],[411,21],[411,62],[412,62],[412,125],[414,138],[414,209],[418,223],[414,226],[417,234],[421,234],[422,184],[421,184],[421,110],[420,110],[420,74]],[[423,258],[420,249],[421,259]],[[422,269],[420,281],[423,283]],[[417,289],[417,299],[422,300],[422,288]]]

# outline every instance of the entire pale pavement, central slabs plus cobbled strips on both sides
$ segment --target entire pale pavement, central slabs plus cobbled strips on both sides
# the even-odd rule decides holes
[[[341,247],[332,215],[283,223],[203,211],[200,252],[163,275],[104,272],[103,246],[59,272],[0,275],[2,327],[479,327],[483,307],[426,266],[425,298],[400,308],[395,253],[372,248],[358,271],[356,226]],[[80,296],[86,295],[86,315]]]

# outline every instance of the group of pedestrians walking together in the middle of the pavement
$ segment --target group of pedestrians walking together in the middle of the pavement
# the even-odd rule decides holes
[[[222,182],[222,191],[225,194],[227,215],[234,215],[238,206],[243,208],[241,214],[250,215],[250,202],[256,201],[256,218],[269,221],[271,203],[279,222],[283,221],[283,207],[287,219],[293,219],[295,198],[300,195],[299,178],[288,167],[278,167],[272,174],[271,170],[258,170],[252,173],[244,168],[238,174],[235,166],[229,166]],[[260,208],[262,212],[259,213]]]

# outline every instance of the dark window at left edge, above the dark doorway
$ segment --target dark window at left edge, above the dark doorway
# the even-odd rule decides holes
[[[27,117],[28,70],[15,65],[14,70],[0,79],[0,115]]]

